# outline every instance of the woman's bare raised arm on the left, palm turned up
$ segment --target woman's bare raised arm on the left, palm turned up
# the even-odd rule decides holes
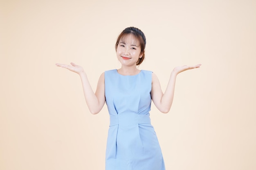
[[[99,77],[98,85],[96,92],[94,94],[92,87],[88,81],[86,73],[83,71],[83,68],[79,65],[71,63],[71,65],[65,64],[56,64],[59,67],[66,68],[72,72],[79,74],[82,85],[83,85],[83,94],[85,96],[86,104],[92,114],[97,114],[103,108],[105,104],[105,78],[104,73]]]

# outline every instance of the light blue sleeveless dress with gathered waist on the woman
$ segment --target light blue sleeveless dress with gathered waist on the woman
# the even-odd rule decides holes
[[[150,123],[152,72],[124,76],[105,71],[105,97],[110,115],[106,170],[165,170]]]

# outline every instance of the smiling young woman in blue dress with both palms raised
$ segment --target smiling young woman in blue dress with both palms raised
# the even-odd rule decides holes
[[[163,93],[153,72],[137,69],[145,58],[145,46],[146,37],[141,30],[124,29],[115,46],[121,68],[102,73],[95,94],[81,66],[56,64],[79,74],[92,114],[99,113],[106,101],[110,114],[106,170],[165,170],[162,151],[150,123],[151,100],[159,111],[168,113],[177,74],[201,65],[174,68]]]

